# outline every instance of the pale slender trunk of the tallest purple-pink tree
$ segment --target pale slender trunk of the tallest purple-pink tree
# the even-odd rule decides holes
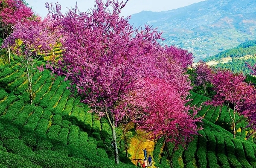
[[[117,149],[117,144],[116,144],[116,127],[115,127],[115,121],[113,119],[113,117],[111,117],[110,119],[110,115],[108,115],[108,112],[105,111],[105,115],[107,116],[108,118],[108,122],[111,126],[111,131],[112,131],[112,140],[113,140],[113,146],[114,146],[114,154],[115,154],[115,162],[116,162],[116,165],[119,164],[119,155],[118,155],[118,149]]]

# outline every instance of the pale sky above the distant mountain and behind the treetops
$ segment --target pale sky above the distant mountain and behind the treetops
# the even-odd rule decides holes
[[[76,1],[78,9],[81,12],[86,12],[88,9],[92,9],[95,4],[95,0],[26,0],[26,2],[29,3],[29,6],[32,6],[33,11],[41,17],[45,17],[48,13],[48,10],[45,7],[46,2],[60,3],[62,12],[65,13],[67,7],[75,7]],[[120,1],[121,0],[119,0],[119,2]],[[141,11],[167,11],[189,6],[200,1],[204,0],[129,0],[125,8],[122,9],[121,15],[126,17]]]

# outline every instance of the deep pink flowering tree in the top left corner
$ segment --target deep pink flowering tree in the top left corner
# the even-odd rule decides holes
[[[7,38],[12,32],[12,26],[17,22],[23,22],[31,18],[34,12],[23,3],[23,0],[0,0],[0,30],[2,30],[3,39]],[[6,46],[6,52],[11,64],[10,46]]]

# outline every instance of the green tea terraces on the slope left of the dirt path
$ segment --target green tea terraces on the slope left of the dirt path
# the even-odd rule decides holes
[[[19,64],[0,67],[0,167],[116,167],[111,130],[67,85],[47,70],[36,71],[30,105],[24,69]]]

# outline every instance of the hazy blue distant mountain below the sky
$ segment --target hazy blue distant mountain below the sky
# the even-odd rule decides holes
[[[158,27],[165,44],[188,49],[198,61],[256,39],[256,1],[206,0],[175,10],[133,14],[130,23]]]

